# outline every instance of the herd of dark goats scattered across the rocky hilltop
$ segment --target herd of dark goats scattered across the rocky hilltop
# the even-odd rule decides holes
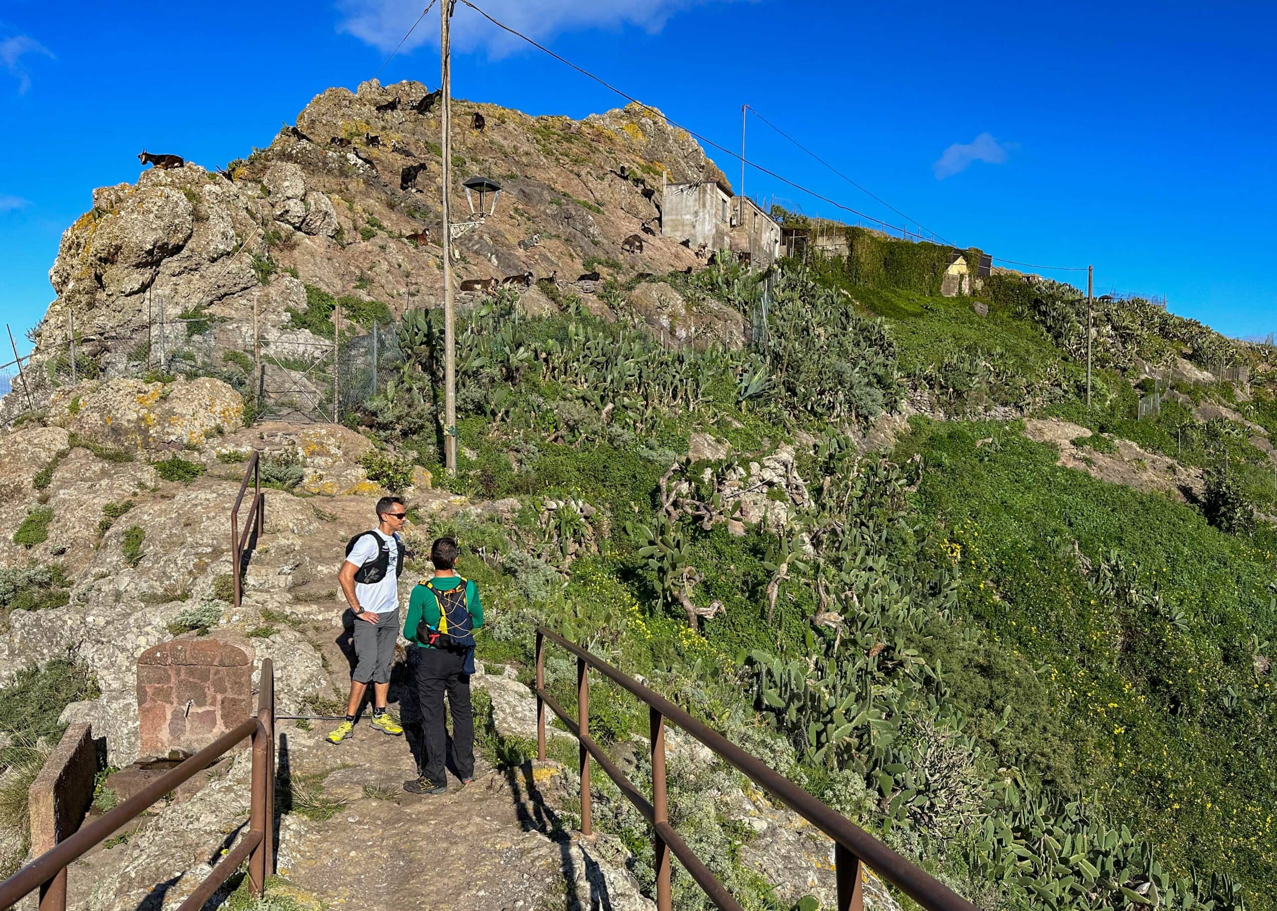
[[[435,89],[434,92],[427,93],[415,105],[410,105],[409,108],[412,110],[414,112],[421,114],[421,115],[432,114],[434,111],[434,107],[438,103],[441,96],[442,96],[442,91],[441,89]],[[389,114],[391,111],[397,111],[397,110],[400,110],[401,101],[402,101],[401,97],[396,96],[395,98],[392,98],[391,101],[387,101],[386,103],[377,105],[375,110],[378,112],[381,112],[381,114]],[[285,125],[285,126],[286,126],[286,131],[295,140],[298,140],[298,142],[309,142],[309,143],[318,144],[318,143],[314,142],[314,139],[312,139],[310,137],[308,137],[305,133],[303,133],[296,126],[287,126],[287,125]],[[483,130],[487,129],[487,126],[488,126],[488,121],[483,116],[483,114],[480,114],[479,111],[474,111],[470,115],[470,129],[471,130],[481,133]],[[365,165],[368,165],[373,170],[373,172],[377,174],[377,165],[375,165],[375,162],[372,158],[369,158],[368,156],[365,156],[364,153],[361,153],[359,151],[359,147],[354,145],[351,143],[351,140],[350,140],[349,137],[332,137],[332,138],[329,138],[328,144],[329,145],[336,145],[338,148],[349,149],[349,152],[351,154],[354,154],[361,162],[364,162]],[[379,135],[377,135],[377,134],[366,133],[365,131],[365,134],[364,134],[364,145],[365,147],[381,147],[382,145],[382,138]],[[404,144],[401,144],[398,140],[391,140],[389,149],[391,149],[391,152],[393,152],[396,154],[400,154],[400,156],[404,156],[405,158],[416,158],[418,157],[410,149],[407,149]],[[152,165],[156,168],[165,170],[165,171],[167,171],[170,168],[184,167],[185,163],[186,163],[185,159],[181,156],[175,156],[175,154],[153,154],[151,152],[147,152],[146,149],[143,149],[142,153],[138,154],[138,161],[140,161],[143,166]],[[418,175],[421,174],[421,171],[427,170],[427,167],[428,167],[427,162],[419,162],[419,163],[407,165],[406,167],[404,167],[400,171],[400,190],[412,191],[412,193],[420,193],[420,190],[416,189],[416,179],[418,179]],[[218,168],[215,168],[215,170],[216,170],[217,174],[220,174],[226,180],[232,180],[231,172],[227,168],[218,167]],[[644,195],[645,199],[654,200],[655,190],[653,188],[647,186],[647,182],[642,177],[642,175],[632,172],[624,165],[621,165],[621,167],[618,170],[616,170],[616,171],[612,171],[612,174],[614,174],[614,175],[617,175],[617,176],[619,176],[619,177],[622,177],[622,179],[624,179],[624,180],[627,180],[627,181],[630,181],[632,184],[636,184],[640,188],[640,190],[641,190],[641,193],[642,193],[642,195]],[[659,219],[660,219],[660,214],[659,214],[660,204],[655,203],[655,200],[654,200],[654,204],[656,204],[656,207],[658,207],[658,214],[654,218],[649,218],[647,221],[645,221],[640,226],[640,230],[642,231],[642,233],[646,233],[646,235],[655,235],[656,233],[656,230],[653,227],[653,223],[654,222],[659,223]],[[429,228],[427,228],[424,231],[418,231],[415,233],[405,235],[404,239],[407,240],[407,241],[410,241],[414,246],[424,246],[424,245],[429,244],[429,241],[430,241],[430,231],[429,231]],[[522,250],[526,251],[526,250],[531,250],[539,242],[540,242],[540,235],[539,233],[534,233],[531,237],[529,237],[526,240],[518,241],[518,246],[520,246],[520,249],[522,249]],[[644,241],[644,237],[642,237],[641,233],[632,233],[628,237],[626,237],[623,241],[621,241],[621,251],[622,253],[628,253],[628,254],[641,254],[642,250],[644,250],[644,244],[645,244],[645,241]],[[690,241],[682,241],[682,245],[687,246],[688,249],[691,248]],[[697,255],[697,258],[705,258],[705,255],[706,255],[705,244],[700,245],[700,248],[696,250],[696,255]],[[713,260],[714,254],[710,253],[709,256]],[[684,269],[684,272],[687,272],[687,273],[691,273],[691,270],[692,270],[691,267],[687,267],[687,269]],[[637,277],[640,279],[642,279],[642,278],[650,278],[651,273],[646,273],[646,272],[645,273],[638,273]],[[557,279],[558,279],[558,272],[555,270],[547,279],[541,279],[541,281],[554,282]],[[476,291],[476,292],[483,292],[483,293],[490,293],[490,292],[495,291],[498,287],[502,287],[502,286],[522,286],[522,287],[529,287],[529,286],[531,286],[534,283],[534,281],[536,281],[536,279],[534,278],[534,276],[533,276],[531,272],[522,272],[522,273],[518,273],[518,274],[515,274],[515,276],[506,276],[504,278],[495,278],[495,277],[493,277],[493,278],[470,278],[470,279],[466,279],[466,281],[461,282],[460,290],[461,291]],[[584,283],[584,282],[599,282],[599,281],[601,281],[601,276],[596,270],[595,272],[587,272],[587,273],[582,274],[580,278],[577,278],[576,281],[578,283]]]

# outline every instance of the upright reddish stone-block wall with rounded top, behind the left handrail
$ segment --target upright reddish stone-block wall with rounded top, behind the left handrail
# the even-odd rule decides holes
[[[138,658],[142,757],[197,753],[252,713],[253,647],[246,639],[225,632],[189,634]]]

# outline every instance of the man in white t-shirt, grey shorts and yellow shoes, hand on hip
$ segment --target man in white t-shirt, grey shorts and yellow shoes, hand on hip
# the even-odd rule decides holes
[[[373,727],[398,736],[404,729],[386,713],[391,689],[391,662],[398,638],[398,577],[404,572],[404,541],[400,530],[407,510],[398,496],[377,501],[378,526],[356,535],[346,545],[346,560],[337,573],[337,582],[355,616],[355,670],[350,675],[350,699],[346,720],[328,735],[340,744],[355,731],[355,717],[364,702],[368,684],[373,684]]]

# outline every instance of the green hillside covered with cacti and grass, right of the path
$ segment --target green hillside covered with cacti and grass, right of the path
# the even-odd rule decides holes
[[[847,260],[783,264],[766,297],[728,265],[667,279],[743,314],[744,351],[663,347],[617,285],[616,322],[571,297],[553,316],[516,319],[510,295],[464,314],[455,478],[438,314],[409,314],[374,435],[460,493],[518,498],[512,523],[452,528],[493,607],[481,657],[530,667],[535,624],[562,629],[981,907],[1273,907],[1277,541],[1255,512],[1277,512],[1277,485],[1254,427],[1194,417],[1214,401],[1277,431],[1272,352],[1106,305],[1088,411],[1074,290],[995,274],[979,316],[937,295],[946,251],[853,241]],[[1176,380],[1180,401],[1135,420],[1138,364],[1181,357],[1251,381]],[[858,455],[905,399],[949,420],[914,416],[893,450]],[[1129,439],[1203,468],[1202,495],[1059,467],[1023,435],[1033,416],[1097,431],[1097,453]],[[730,454],[691,461],[701,433]],[[750,473],[782,444],[792,468]],[[753,508],[773,521],[733,535],[742,477],[765,481]],[[548,671],[571,708],[575,667]],[[591,731],[618,750],[646,723],[591,695]],[[747,833],[716,818],[722,786],[674,769],[673,822],[747,906],[778,907],[734,861]],[[596,824],[650,879],[646,829],[609,787]],[[676,894],[704,906],[682,871]]]

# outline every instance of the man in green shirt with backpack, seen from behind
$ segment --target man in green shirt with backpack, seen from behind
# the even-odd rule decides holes
[[[470,675],[475,670],[474,630],[483,626],[483,606],[478,586],[457,575],[456,561],[456,538],[437,538],[430,547],[434,578],[412,588],[404,621],[404,638],[414,652],[412,669],[425,734],[425,766],[419,778],[404,782],[409,794],[444,794],[448,790],[444,693],[452,711],[452,759],[457,776],[462,783],[469,783],[475,773]]]

